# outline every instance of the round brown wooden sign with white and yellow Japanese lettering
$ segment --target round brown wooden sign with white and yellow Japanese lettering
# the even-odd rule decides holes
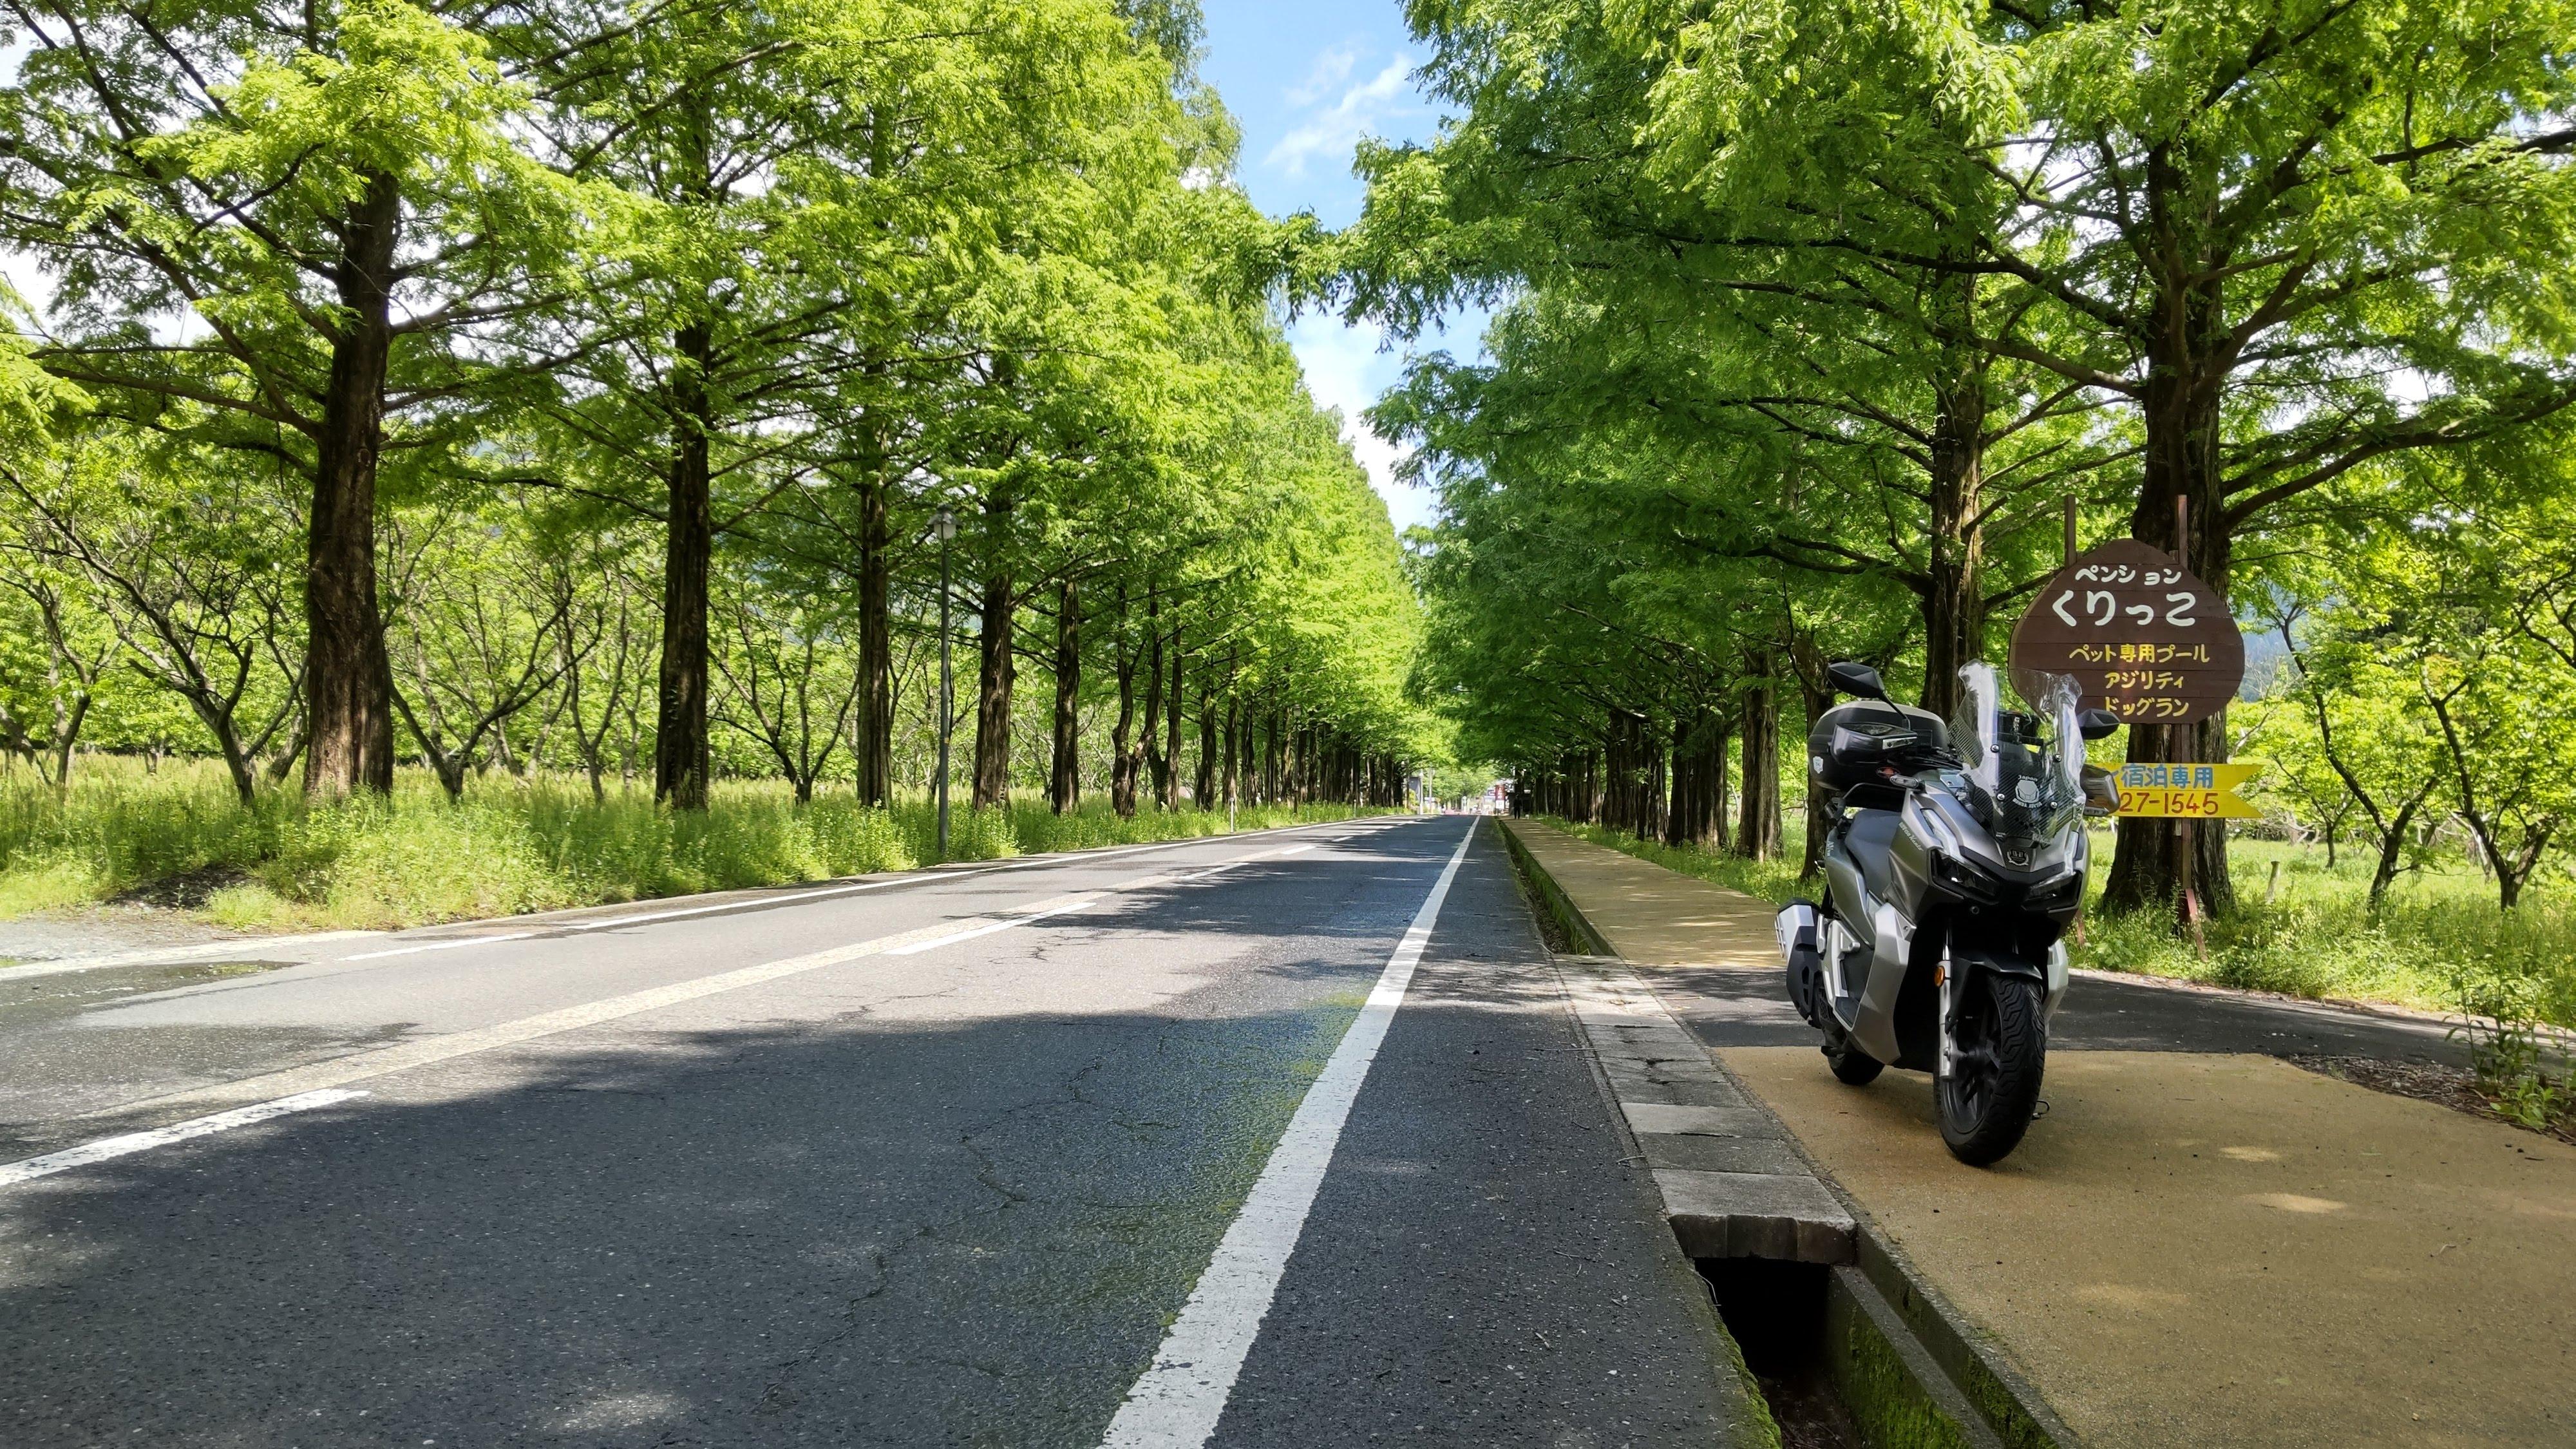
[[[2125,724],[2190,724],[2236,699],[2246,642],[2218,593],[2164,549],[2115,539],[2058,570],[2012,627],[2012,686],[2074,676],[2087,709]]]

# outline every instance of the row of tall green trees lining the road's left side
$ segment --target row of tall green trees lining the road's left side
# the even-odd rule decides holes
[[[420,758],[884,802],[943,588],[979,807],[1355,797],[1417,748],[1396,541],[1193,5],[8,15],[0,242],[46,294],[0,743],[57,779],[90,737],[245,799]]]

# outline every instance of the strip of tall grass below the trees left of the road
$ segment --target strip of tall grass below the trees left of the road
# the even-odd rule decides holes
[[[1242,810],[1236,828],[1342,820],[1345,804]],[[987,861],[1224,835],[1224,812],[1105,799],[1074,815],[1043,804],[951,815],[948,859]],[[927,799],[894,810],[850,797],[796,804],[786,784],[719,781],[703,815],[647,792],[590,799],[580,779],[479,779],[451,804],[425,771],[389,802],[307,810],[291,792],[242,810],[222,768],[82,761],[70,794],[18,771],[0,779],[0,918],[111,900],[201,910],[245,931],[399,928],[894,871],[935,856]]]

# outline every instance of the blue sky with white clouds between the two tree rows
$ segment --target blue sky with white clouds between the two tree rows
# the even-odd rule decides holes
[[[1412,83],[1422,46],[1404,34],[1396,0],[1208,0],[1206,15],[1200,75],[1244,126],[1239,180],[1262,211],[1314,211],[1327,227],[1345,227],[1365,199],[1350,175],[1358,139],[1437,131],[1440,113]],[[1378,340],[1376,327],[1334,317],[1301,317],[1288,333],[1316,402],[1342,410],[1345,436],[1396,529],[1406,529],[1430,521],[1432,500],[1394,480],[1396,451],[1360,420],[1404,371],[1404,358],[1378,351]],[[1471,351],[1473,333],[1448,345]]]

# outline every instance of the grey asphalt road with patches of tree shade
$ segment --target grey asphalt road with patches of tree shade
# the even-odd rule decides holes
[[[0,1158],[319,1104],[0,1168],[0,1444],[1087,1446],[1149,1369],[1188,1444],[1718,1441],[1713,1315],[1466,833],[0,977]]]

